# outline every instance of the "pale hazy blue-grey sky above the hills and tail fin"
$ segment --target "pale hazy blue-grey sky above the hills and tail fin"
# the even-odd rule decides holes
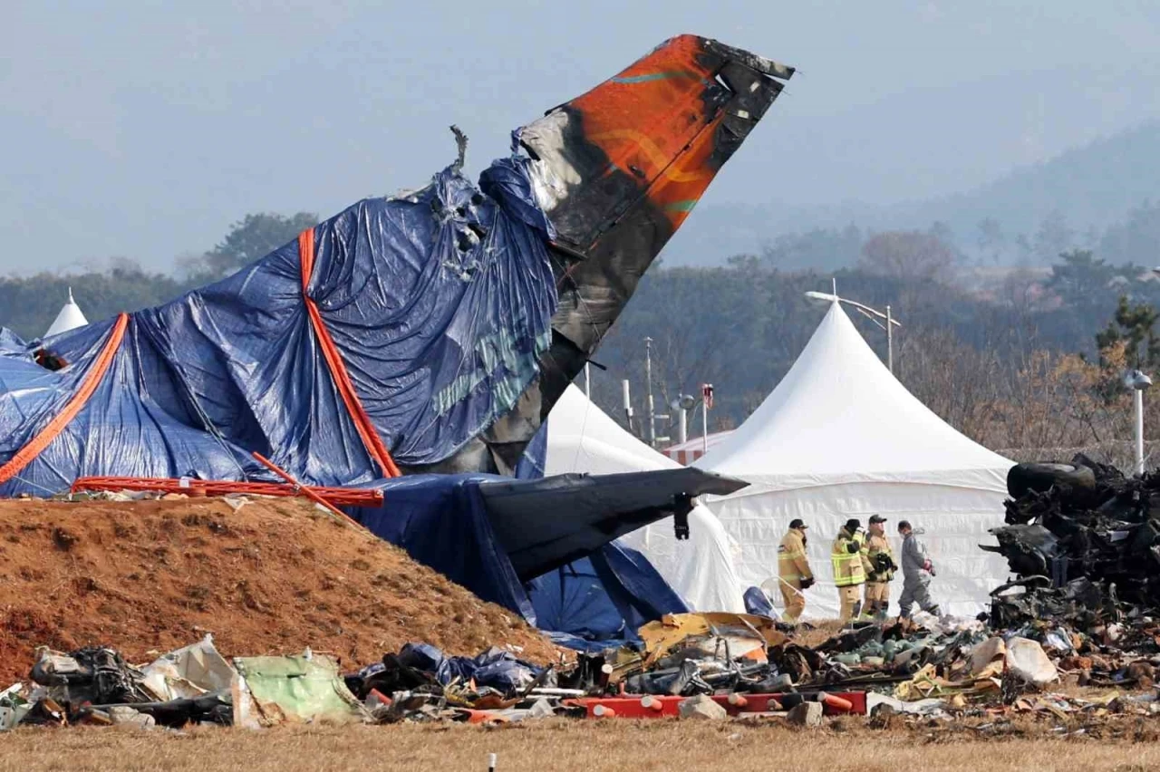
[[[0,271],[167,268],[246,212],[419,187],[666,37],[800,68],[706,196],[894,202],[1160,114],[1154,0],[5,6]],[[688,228],[696,227],[696,216]]]

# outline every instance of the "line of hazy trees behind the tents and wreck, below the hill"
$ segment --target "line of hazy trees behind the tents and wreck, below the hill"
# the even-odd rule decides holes
[[[268,254],[317,219],[309,212],[248,214],[172,274],[121,263],[88,274],[0,278],[0,325],[26,340],[37,337],[68,286],[92,320],[158,305]],[[891,306],[902,323],[894,341],[896,374],[972,438],[995,449],[1047,449],[1131,436],[1129,394],[1119,377],[1130,366],[1160,371],[1154,329],[1160,281],[1148,268],[1071,248],[1046,268],[980,272],[964,264],[937,225],[869,238],[851,230],[829,235],[831,246],[856,245],[851,265],[786,269],[768,249],[719,268],[654,265],[596,352],[607,367],[592,371],[596,403],[623,421],[619,381],[628,378],[641,414],[647,336],[659,412],[712,383],[711,428],[740,424],[785,374],[825,313],[805,292],[829,291],[836,281],[844,297]],[[851,318],[885,356],[882,330]],[[1148,409],[1150,424],[1160,420],[1160,406]],[[660,432],[675,435],[664,422]]]

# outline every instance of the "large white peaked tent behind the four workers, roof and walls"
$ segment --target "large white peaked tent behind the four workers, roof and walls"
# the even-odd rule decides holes
[[[1003,523],[1013,464],[907,392],[835,303],[761,407],[696,466],[751,483],[706,502],[740,545],[744,583],[776,577],[789,522],[806,522],[818,577],[806,592],[806,614],[827,617],[838,610],[831,544],[847,519],[865,526],[873,514],[887,518],[896,555],[898,520],[925,530],[937,573],[931,595],[944,611],[983,610],[988,591],[1006,577],[1006,562],[978,545],[993,542],[987,529]],[[892,604],[900,591],[901,577]]]

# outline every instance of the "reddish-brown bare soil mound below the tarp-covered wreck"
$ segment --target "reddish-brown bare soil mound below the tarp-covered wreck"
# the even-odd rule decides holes
[[[140,662],[205,633],[226,656],[310,646],[347,667],[407,641],[556,656],[516,614],[300,501],[0,501],[0,689],[41,644]]]

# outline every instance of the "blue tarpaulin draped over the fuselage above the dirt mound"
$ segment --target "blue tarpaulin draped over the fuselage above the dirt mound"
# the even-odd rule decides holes
[[[449,167],[415,194],[361,201],[313,230],[306,294],[399,465],[448,458],[538,373],[557,296],[529,163],[496,161],[479,188]],[[263,479],[252,451],[307,483],[382,476],[324,358],[300,269],[295,241],[131,314],[95,392],[0,495],[57,493],[82,475]],[[46,340],[68,363],[60,371],[0,366],[0,464],[99,372],[115,327]]]

